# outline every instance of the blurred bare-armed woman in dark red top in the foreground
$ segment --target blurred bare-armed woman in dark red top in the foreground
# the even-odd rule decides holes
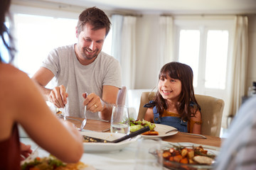
[[[14,40],[5,25],[10,4],[10,0],[1,1],[0,40],[11,62],[14,60]],[[58,120],[38,87],[26,73],[4,63],[3,54],[0,51],[0,169],[21,169],[21,154],[24,157],[31,154],[30,146],[19,142],[18,124],[50,154],[63,162],[78,162],[83,152],[78,130],[71,123]]]

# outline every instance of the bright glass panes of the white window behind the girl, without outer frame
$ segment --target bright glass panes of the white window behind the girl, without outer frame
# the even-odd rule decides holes
[[[200,30],[180,30],[178,61],[186,63],[193,68],[196,88],[199,81],[205,81],[204,86],[209,89],[225,89],[225,75],[228,60],[228,30],[206,30],[206,34]],[[206,39],[206,45],[201,46],[201,34]],[[203,49],[202,49],[203,48]],[[205,61],[205,68],[199,68],[200,51],[206,50],[201,56]],[[216,69],[218,66],[218,69]],[[205,72],[205,74],[199,74]],[[199,77],[198,79],[198,76]]]

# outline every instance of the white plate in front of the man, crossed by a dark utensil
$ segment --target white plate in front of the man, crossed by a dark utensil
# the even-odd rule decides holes
[[[116,140],[119,137],[124,136],[124,134],[121,133],[111,133],[111,132],[80,132],[82,135],[86,135],[89,137],[97,137],[102,140]],[[132,142],[135,142],[139,138],[139,135],[137,137],[133,137],[128,140],[124,140],[122,142],[118,143],[100,143],[100,142],[84,142],[83,148],[84,152],[112,152],[112,151],[119,151],[121,149],[124,149],[124,147],[127,147]]]

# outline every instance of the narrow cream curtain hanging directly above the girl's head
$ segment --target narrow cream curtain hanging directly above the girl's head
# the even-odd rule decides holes
[[[174,19],[171,16],[159,18],[159,70],[167,62],[177,61],[174,58]]]

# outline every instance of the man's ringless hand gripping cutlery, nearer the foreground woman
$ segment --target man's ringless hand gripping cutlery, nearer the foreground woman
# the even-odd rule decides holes
[[[65,86],[55,86],[55,88],[50,91],[48,96],[48,101],[53,103],[57,108],[64,108],[67,104],[68,94],[65,92]]]

